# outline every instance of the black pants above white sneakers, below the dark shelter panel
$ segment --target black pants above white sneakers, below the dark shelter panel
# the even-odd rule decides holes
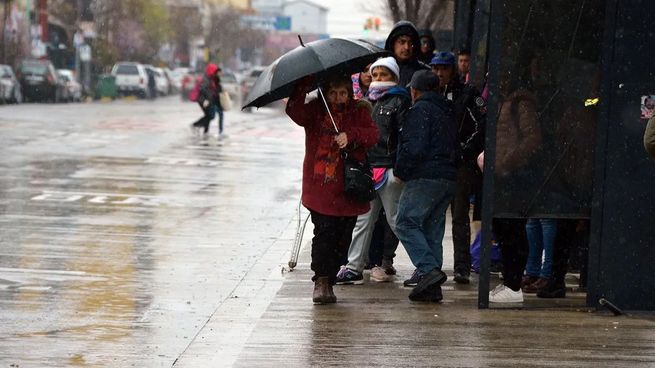
[[[528,261],[525,219],[494,219],[493,232],[503,254],[503,284],[518,291]]]

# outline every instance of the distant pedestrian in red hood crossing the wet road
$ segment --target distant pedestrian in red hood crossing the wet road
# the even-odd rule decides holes
[[[198,91],[197,102],[202,109],[203,116],[193,123],[192,127],[196,129],[203,129],[203,133],[209,132],[209,124],[218,113],[218,134],[223,133],[223,107],[219,94],[223,92],[221,86],[221,68],[216,64],[209,63],[205,67],[205,74],[200,82],[200,89]]]

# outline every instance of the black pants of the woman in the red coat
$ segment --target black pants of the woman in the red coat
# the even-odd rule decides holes
[[[311,210],[310,213],[314,224],[312,281],[328,277],[330,283],[334,284],[341,261],[348,254],[357,216],[327,216]]]

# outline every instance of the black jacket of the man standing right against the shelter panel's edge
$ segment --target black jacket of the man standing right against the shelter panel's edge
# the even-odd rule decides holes
[[[470,84],[462,83],[459,78],[447,85],[444,97],[453,102],[453,112],[457,123],[457,140],[461,146],[464,162],[474,163],[484,150],[485,116],[476,99],[481,99],[480,92]]]

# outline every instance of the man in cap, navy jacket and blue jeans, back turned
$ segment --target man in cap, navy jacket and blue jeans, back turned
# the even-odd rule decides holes
[[[412,301],[438,302],[446,210],[455,193],[457,127],[451,103],[437,91],[439,78],[419,70],[409,84],[414,105],[405,116],[394,173],[405,182],[396,230],[419,273]]]

